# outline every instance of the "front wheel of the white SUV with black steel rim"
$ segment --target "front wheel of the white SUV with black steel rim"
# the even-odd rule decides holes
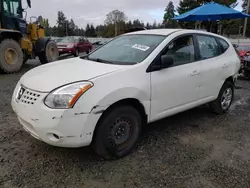
[[[129,154],[141,133],[142,118],[131,106],[113,108],[98,123],[92,147],[104,159],[116,159]]]

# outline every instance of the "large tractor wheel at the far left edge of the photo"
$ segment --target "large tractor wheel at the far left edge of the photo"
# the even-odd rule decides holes
[[[8,51],[8,52],[7,52]],[[7,58],[9,58],[10,54],[11,59],[9,59],[9,63],[7,62]],[[23,65],[23,52],[15,40],[5,39],[0,42],[0,70],[4,73],[13,73],[19,71]]]

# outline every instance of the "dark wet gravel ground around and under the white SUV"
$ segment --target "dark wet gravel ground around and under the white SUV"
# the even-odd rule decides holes
[[[35,66],[0,75],[0,187],[250,187],[250,81],[239,81],[227,114],[203,106],[147,125],[132,154],[102,161],[88,147],[52,147],[22,129],[11,95]]]

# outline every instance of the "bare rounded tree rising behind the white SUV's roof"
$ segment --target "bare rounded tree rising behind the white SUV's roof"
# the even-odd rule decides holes
[[[105,23],[107,25],[114,24],[115,25],[115,36],[117,36],[118,26],[121,22],[125,22],[127,19],[124,12],[119,10],[113,10],[106,15]]]

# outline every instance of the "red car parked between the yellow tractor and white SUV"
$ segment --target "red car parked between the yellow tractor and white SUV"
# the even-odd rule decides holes
[[[81,52],[87,54],[92,50],[92,44],[84,37],[64,37],[57,43],[59,55],[72,54],[75,57]]]

